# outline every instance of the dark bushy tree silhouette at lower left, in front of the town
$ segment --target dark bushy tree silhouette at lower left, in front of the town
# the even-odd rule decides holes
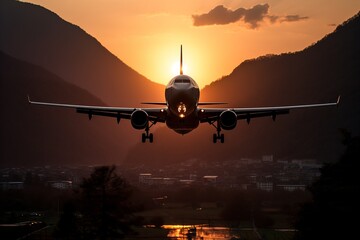
[[[81,199],[81,231],[85,239],[119,239],[131,231],[131,188],[115,166],[95,168],[84,179]]]

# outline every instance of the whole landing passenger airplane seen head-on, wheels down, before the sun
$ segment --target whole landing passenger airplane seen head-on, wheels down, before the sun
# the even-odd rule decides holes
[[[302,108],[316,108],[337,106],[340,96],[336,102],[255,107],[255,108],[203,108],[201,106],[226,104],[224,102],[199,102],[200,90],[197,83],[190,76],[183,73],[182,45],[180,46],[180,74],[170,80],[165,88],[165,102],[144,102],[142,104],[160,105],[158,108],[131,108],[131,107],[106,107],[86,106],[74,104],[62,104],[51,102],[31,101],[34,105],[63,107],[75,109],[77,113],[87,114],[89,120],[94,115],[112,117],[117,120],[128,119],[133,128],[144,130],[141,140],[145,143],[153,142],[154,136],[150,128],[156,123],[166,123],[167,127],[179,134],[186,134],[196,129],[200,123],[209,123],[214,126],[216,133],[213,134],[213,142],[218,140],[224,143],[222,130],[232,130],[236,127],[238,120],[246,120],[250,123],[252,118],[270,116],[275,121],[277,115],[288,114],[290,110]]]

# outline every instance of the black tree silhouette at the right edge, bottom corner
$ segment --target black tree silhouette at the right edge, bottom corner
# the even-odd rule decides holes
[[[345,153],[337,163],[326,165],[310,187],[313,201],[300,211],[296,239],[351,239],[357,234],[360,138],[344,136]]]

